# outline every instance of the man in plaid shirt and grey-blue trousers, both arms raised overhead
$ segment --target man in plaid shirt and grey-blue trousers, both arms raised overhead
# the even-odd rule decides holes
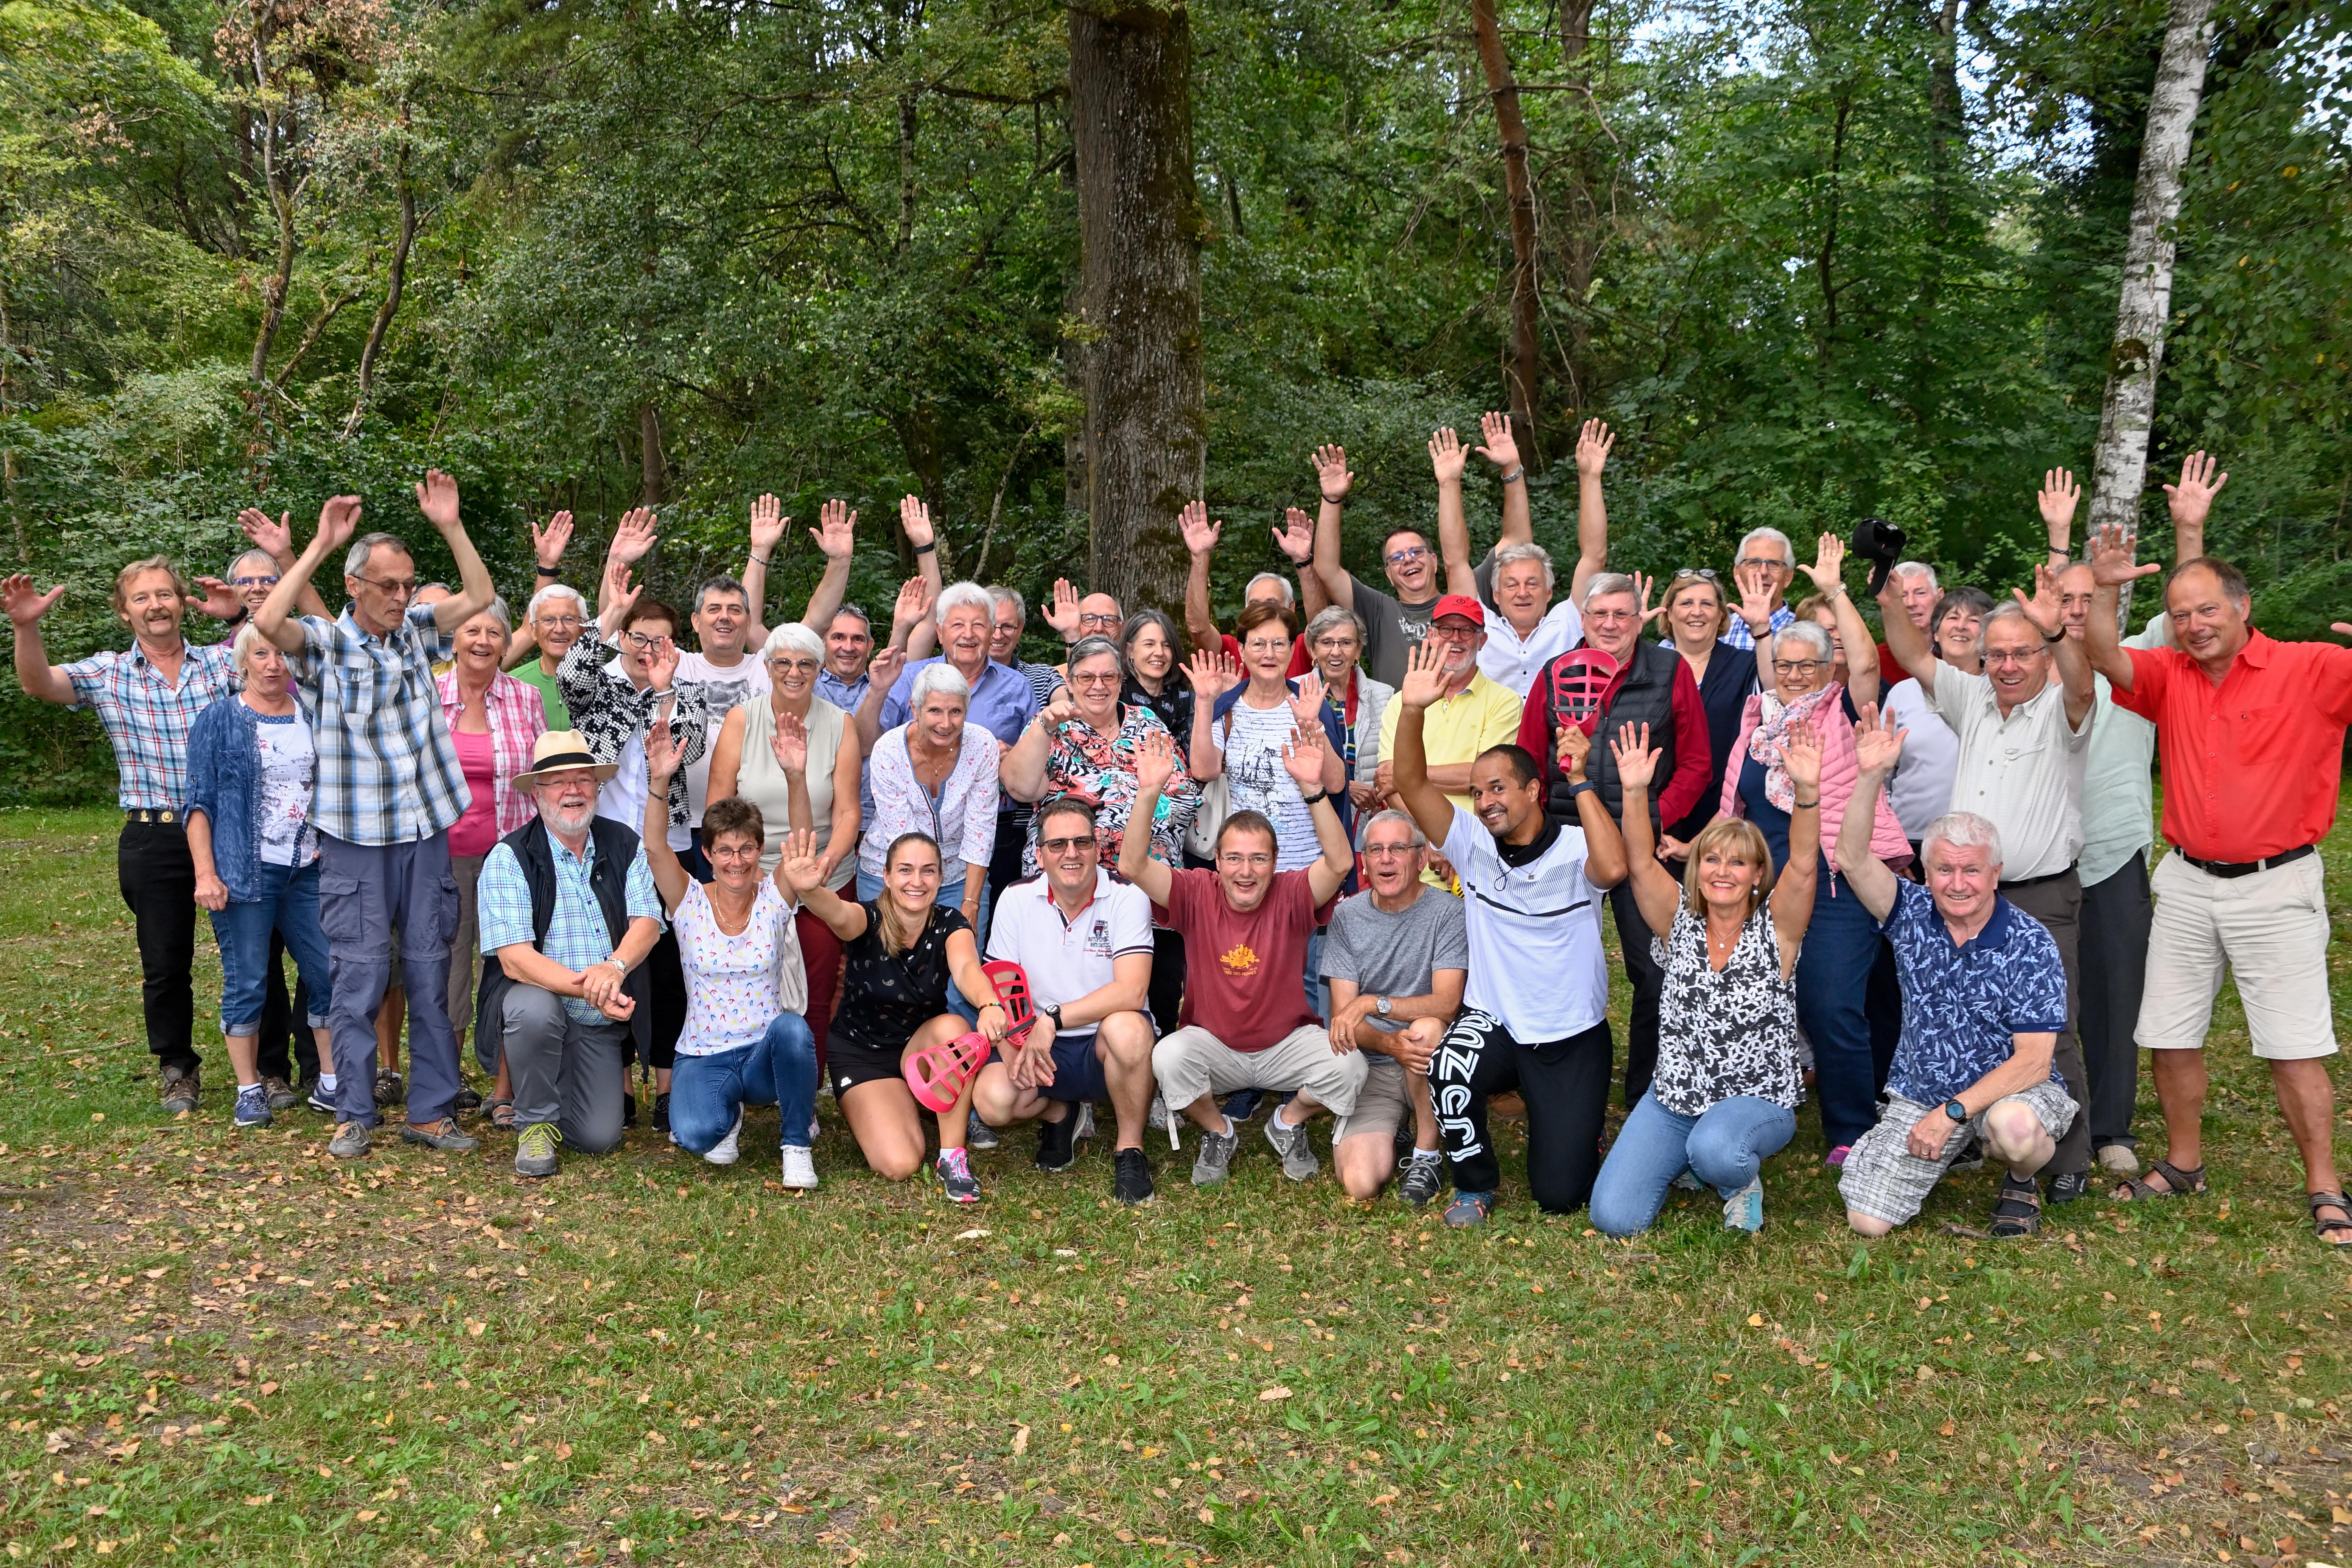
[[[449,823],[466,813],[470,792],[433,663],[449,658],[452,632],[496,590],[459,522],[456,480],[428,470],[416,508],[456,559],[463,588],[454,597],[416,604],[409,548],[393,534],[353,541],[360,498],[334,496],[318,515],[310,548],[254,614],[261,635],[294,665],[318,741],[310,795],[320,849],[318,919],[327,929],[336,990],[327,1030],[336,1060],[353,1065],[336,1074],[336,1133],[327,1150],[339,1159],[367,1154],[376,1126],[376,1086],[365,1065],[376,1048],[374,1018],[390,976],[393,931],[400,931],[409,997],[409,1117],[400,1135],[447,1152],[475,1147],[456,1128],[463,1079],[449,1030],[449,938],[456,933]],[[296,585],[346,543],[350,609],[334,621],[294,618]]]

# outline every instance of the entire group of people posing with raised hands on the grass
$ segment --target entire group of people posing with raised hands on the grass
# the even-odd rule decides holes
[[[407,543],[336,496],[301,555],[249,510],[226,578],[125,567],[127,651],[52,665],[64,588],[12,576],[0,602],[24,689],[96,710],[118,755],[165,1110],[200,1103],[202,907],[235,1121],[299,1105],[299,1077],[341,1159],[405,1100],[405,1140],[475,1150],[461,1114],[482,1110],[517,1173],[553,1175],[562,1150],[621,1140],[635,1070],[654,1126],[713,1164],[774,1105],[800,1190],[826,1093],[877,1175],[929,1171],[955,1201],[981,1197],[971,1147],[1035,1121],[1035,1164],[1061,1171],[1098,1110],[1122,1201],[1152,1197],[1152,1128],[1190,1126],[1207,1187],[1261,1112],[1310,1180],[1329,1112],[1348,1194],[1395,1180],[1421,1206],[1451,1182],[1446,1220],[1477,1225],[1505,1187],[1489,1107],[1510,1091],[1541,1208],[1635,1234],[1682,1182],[1755,1232],[1762,1166],[1811,1098],[1856,1232],[1990,1159],[1990,1229],[2027,1237],[2093,1182],[2206,1192],[2227,966],[2314,1232],[2352,1244],[2314,853],[2352,649],[2253,630],[2244,576],[2204,555],[2227,475],[2197,454],[2166,487],[2176,564],[2133,635],[2124,592],[2161,567],[2119,529],[2077,559],[2079,491],[2051,470],[2030,590],[1891,564],[1879,639],[1835,536],[1804,562],[1755,529],[1729,574],[1663,588],[1611,571],[1599,421],[1562,595],[1510,421],[1479,435],[1430,440],[1437,538],[1383,538],[1385,585],[1341,562],[1352,475],[1322,447],[1317,515],[1272,534],[1296,581],[1261,571],[1221,628],[1223,529],[1192,503],[1185,625],[1054,583],[1051,665],[1021,656],[1016,590],[941,581],[913,496],[920,574],[884,639],[844,602],[837,501],[809,529],[826,571],[804,616],[764,625],[774,496],[741,576],[684,616],[633,581],[649,510],[614,529],[593,604],[562,581],[557,512],[517,625],[442,473],[416,501],[456,588],[419,583]],[[1482,557],[1472,456],[1503,496]],[[191,609],[233,632],[186,642]],[[2171,853],[2150,875],[2159,757]],[[379,1067],[400,1009],[407,1079]],[[2166,1138],[2145,1171],[2143,1046]],[[931,1079],[943,1110],[915,1093]],[[1625,1119],[1604,1143],[1611,1079]]]

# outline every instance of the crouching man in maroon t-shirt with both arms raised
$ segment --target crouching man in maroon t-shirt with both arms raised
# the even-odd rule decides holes
[[[1176,743],[1155,733],[1136,748],[1131,820],[1148,823],[1176,766]],[[1308,1009],[1308,938],[1355,870],[1355,846],[1324,795],[1324,736],[1319,724],[1291,731],[1282,766],[1298,783],[1322,860],[1296,872],[1275,870],[1275,825],[1256,811],[1235,811],[1216,835],[1216,870],[1169,870],[1152,860],[1148,832],[1120,846],[1120,875],[1143,889],[1160,919],[1192,954],[1185,971],[1176,1032],[1152,1046],[1152,1077],[1169,1110],[1200,1131],[1192,1185],[1225,1180],[1240,1128],[1216,1107],[1240,1088],[1291,1091],[1289,1105],[1265,1119],[1265,1140],[1294,1182],[1315,1175],[1308,1117],[1345,1117],[1364,1088],[1364,1056],[1334,1051],[1322,1018]]]

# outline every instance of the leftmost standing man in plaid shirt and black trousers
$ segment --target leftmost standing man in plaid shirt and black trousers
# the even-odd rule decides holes
[[[169,557],[151,555],[115,576],[115,616],[132,628],[129,651],[106,649],[52,665],[40,618],[64,597],[64,583],[38,592],[19,574],[0,583],[0,607],[16,628],[16,682],[26,696],[92,708],[115,748],[122,839],[115,879],[139,929],[141,997],[148,1051],[162,1079],[162,1107],[195,1110],[195,863],[188,858],[188,726],[228,693],[228,644],[188,646],[179,632],[188,604],[221,621],[242,618],[219,585],[198,597]],[[292,585],[289,585],[292,592]]]

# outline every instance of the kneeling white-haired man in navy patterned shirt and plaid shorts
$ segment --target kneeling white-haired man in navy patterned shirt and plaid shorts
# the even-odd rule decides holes
[[[1884,1237],[1917,1215],[1973,1131],[2009,1168],[1992,1234],[2030,1237],[2042,1227],[2034,1173],[2077,1114],[2051,1065],[2065,1027],[2058,943],[1999,896],[2002,835],[1971,811],[1926,825],[1926,886],[1886,870],[1870,853],[1870,813],[1903,757],[1903,731],[1882,726],[1865,705],[1853,743],[1860,776],[1837,835],[1837,870],[1896,950],[1903,1039],[1879,1121],[1837,1178],[1846,1222]]]

